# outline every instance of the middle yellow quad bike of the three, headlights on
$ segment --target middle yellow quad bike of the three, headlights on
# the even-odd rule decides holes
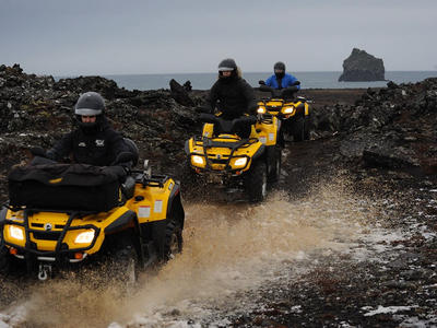
[[[214,185],[243,191],[252,202],[263,201],[268,184],[277,181],[281,174],[279,119],[258,115],[225,120],[212,114],[201,114],[200,119],[205,122],[202,136],[185,145],[184,195]],[[243,136],[240,129],[250,136]]]

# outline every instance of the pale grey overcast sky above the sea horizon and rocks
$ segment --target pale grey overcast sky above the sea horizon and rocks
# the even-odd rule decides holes
[[[0,0],[0,65],[55,77],[342,71],[353,48],[432,71],[436,33],[436,0]]]

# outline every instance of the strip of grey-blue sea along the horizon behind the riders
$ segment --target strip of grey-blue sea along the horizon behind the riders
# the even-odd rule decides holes
[[[427,78],[436,78],[437,70],[434,71],[386,71],[386,81],[375,82],[339,82],[341,71],[327,72],[290,72],[300,81],[302,90],[305,89],[367,89],[385,87],[389,81],[394,83],[416,83]],[[258,87],[260,80],[267,80],[271,72],[248,72],[243,73],[243,78],[253,87]],[[176,73],[176,74],[118,74],[101,75],[117,83],[118,87],[126,90],[150,91],[169,89],[169,82],[175,80],[179,84],[190,82],[193,90],[210,90],[217,79],[217,73]],[[55,80],[75,77],[54,77]]]

